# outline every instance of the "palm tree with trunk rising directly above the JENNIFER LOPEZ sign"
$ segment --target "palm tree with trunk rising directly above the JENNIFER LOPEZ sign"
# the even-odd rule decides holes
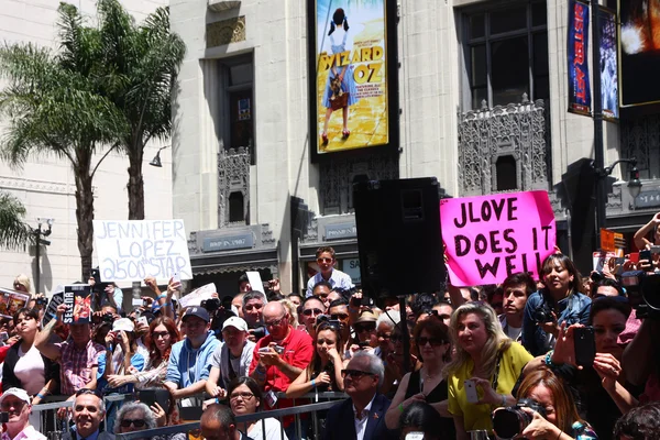
[[[102,92],[121,110],[125,131],[117,143],[129,157],[129,220],[144,219],[144,146],[166,140],[172,92],[186,45],[169,32],[169,11],[158,8],[136,26],[118,0],[99,0],[103,53]]]

